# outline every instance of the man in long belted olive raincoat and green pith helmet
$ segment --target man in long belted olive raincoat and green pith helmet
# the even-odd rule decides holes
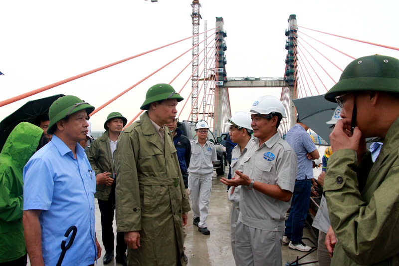
[[[156,84],[140,107],[148,110],[119,136],[115,151],[116,224],[125,233],[129,266],[186,265],[183,226],[190,204],[168,127],[183,97]]]

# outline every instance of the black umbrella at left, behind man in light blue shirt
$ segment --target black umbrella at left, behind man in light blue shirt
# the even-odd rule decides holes
[[[64,94],[57,94],[33,101],[28,101],[22,105],[18,110],[4,118],[0,122],[0,151],[4,146],[8,135],[14,127],[20,122],[29,122],[34,124],[38,115],[48,114],[50,105],[59,97],[65,96]]]

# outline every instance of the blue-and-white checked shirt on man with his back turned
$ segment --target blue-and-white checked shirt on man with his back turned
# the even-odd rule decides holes
[[[285,140],[294,149],[298,157],[298,174],[297,180],[304,180],[313,178],[313,164],[312,160],[308,159],[308,153],[316,150],[316,145],[313,143],[312,138],[306,130],[300,125],[295,124],[288,130]]]

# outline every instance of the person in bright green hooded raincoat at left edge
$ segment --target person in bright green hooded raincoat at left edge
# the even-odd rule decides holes
[[[25,266],[27,263],[22,226],[22,171],[33,153],[45,143],[41,128],[22,122],[11,131],[1,150],[0,265]]]

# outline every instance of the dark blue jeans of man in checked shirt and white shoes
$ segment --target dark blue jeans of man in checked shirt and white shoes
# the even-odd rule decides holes
[[[295,181],[291,212],[285,224],[284,234],[293,243],[302,241],[303,225],[309,210],[311,186],[312,182],[307,178]]]

